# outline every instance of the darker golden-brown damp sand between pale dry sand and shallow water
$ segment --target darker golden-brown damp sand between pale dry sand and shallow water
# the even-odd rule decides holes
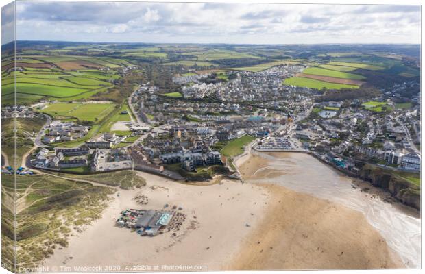
[[[400,268],[400,258],[361,212],[281,186],[261,227],[227,269]]]

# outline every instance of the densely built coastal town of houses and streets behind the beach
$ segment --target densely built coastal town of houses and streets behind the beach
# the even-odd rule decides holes
[[[104,132],[77,147],[65,148],[60,146],[62,142],[86,137],[91,126],[49,119],[35,136],[39,148],[32,153],[31,167],[58,171],[134,169],[130,152],[137,147],[142,164],[158,171],[196,172],[205,166],[223,165],[230,173],[237,173],[228,155],[220,151],[249,136],[250,143],[245,145],[255,143],[252,148],[258,151],[304,151],[330,164],[338,159],[338,169],[353,173],[359,170],[356,162],[420,171],[420,97],[406,103],[413,105],[407,109],[393,102],[403,88],[415,82],[394,86],[372,99],[318,103],[312,100],[317,90],[282,84],[300,68],[280,65],[259,73],[219,75],[232,75],[226,82],[217,80],[215,73],[174,77],[173,82],[182,84],[182,98],[161,95],[156,86],[141,83],[129,98],[136,119],[123,125],[128,133]],[[217,82],[206,85],[205,79]],[[184,86],[188,82],[202,84]],[[202,98],[210,100],[192,100]],[[44,108],[51,103],[45,103]],[[40,104],[36,107],[3,108],[2,118],[46,115]],[[391,114],[383,115],[383,109]]]

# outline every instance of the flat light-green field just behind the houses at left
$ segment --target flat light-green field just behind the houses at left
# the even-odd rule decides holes
[[[53,103],[40,112],[56,118],[68,117],[80,121],[99,121],[114,109],[112,103]]]

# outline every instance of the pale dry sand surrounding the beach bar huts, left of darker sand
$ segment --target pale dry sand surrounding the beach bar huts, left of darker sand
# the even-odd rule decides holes
[[[76,271],[76,267],[99,265],[114,268],[108,271],[140,271],[140,266],[155,265],[205,265],[204,270],[223,269],[239,243],[258,227],[270,199],[265,188],[236,181],[194,186],[147,173],[141,175],[147,186],[140,190],[119,190],[119,197],[115,197],[102,218],[71,237],[69,247],[56,250],[44,265],[57,271],[61,270],[60,266],[70,266]],[[141,193],[149,198],[147,205],[132,200]],[[175,237],[170,232],[141,237],[130,229],[114,226],[114,218],[121,210],[160,210],[166,203],[181,206],[187,214]]]

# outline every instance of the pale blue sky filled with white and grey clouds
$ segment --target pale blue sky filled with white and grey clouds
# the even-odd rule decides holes
[[[420,23],[418,5],[16,2],[18,40],[420,43]]]

